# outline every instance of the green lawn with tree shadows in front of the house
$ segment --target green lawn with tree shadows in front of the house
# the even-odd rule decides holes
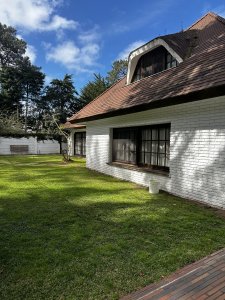
[[[225,246],[225,220],[65,165],[0,157],[0,299],[118,299]]]

